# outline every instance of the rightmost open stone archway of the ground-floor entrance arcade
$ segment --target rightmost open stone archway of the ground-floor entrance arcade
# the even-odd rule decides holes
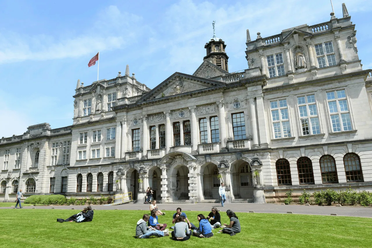
[[[244,160],[232,164],[232,187],[235,199],[253,198],[253,177],[250,165]]]

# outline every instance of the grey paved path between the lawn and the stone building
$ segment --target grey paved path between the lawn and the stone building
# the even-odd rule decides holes
[[[338,216],[355,216],[355,217],[369,217],[372,218],[372,207],[336,207],[336,206],[304,206],[304,205],[280,205],[273,203],[266,204],[256,204],[256,203],[225,203],[225,207],[221,207],[218,203],[196,203],[196,204],[158,204],[160,210],[166,209],[164,212],[169,212],[173,214],[176,212],[177,207],[181,207],[183,211],[187,210],[201,210],[209,211],[213,206],[216,206],[219,210],[226,211],[231,209],[234,212],[249,212],[254,211],[255,213],[287,213],[288,211],[294,214],[303,215],[331,215],[337,214]],[[76,210],[82,209],[84,206],[35,206],[36,209],[71,209]],[[12,207],[0,207],[0,209],[11,209]],[[25,206],[24,209],[32,209],[32,206]],[[101,210],[147,210],[149,209],[148,204],[141,203],[128,203],[116,206],[103,206],[95,205],[92,206],[93,209]]]

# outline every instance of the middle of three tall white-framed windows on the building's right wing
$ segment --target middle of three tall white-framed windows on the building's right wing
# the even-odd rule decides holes
[[[315,95],[297,97],[302,135],[319,134],[319,118]]]

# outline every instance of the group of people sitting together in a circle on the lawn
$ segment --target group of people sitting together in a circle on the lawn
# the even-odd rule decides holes
[[[152,204],[156,206],[156,201],[153,201]],[[164,213],[159,213],[159,211],[160,210],[157,207],[153,207],[150,216],[145,214],[142,216],[142,219],[138,220],[136,226],[137,238],[169,236],[167,224],[158,222],[158,215],[164,215]],[[207,217],[202,214],[197,216],[199,222],[199,227],[197,228],[189,219],[187,219],[187,216],[182,212],[182,209],[177,207],[177,212],[174,213],[172,220],[172,223],[174,224],[174,226],[171,227],[174,229],[174,231],[171,232],[172,239],[176,241],[185,241],[192,235],[199,238],[210,238],[213,236],[212,229],[219,227],[222,228],[219,232],[230,234],[230,236],[239,233],[241,230],[238,217],[230,209],[226,211],[226,215],[230,218],[230,224],[224,223],[221,225],[221,215],[216,207],[212,207],[212,211]]]

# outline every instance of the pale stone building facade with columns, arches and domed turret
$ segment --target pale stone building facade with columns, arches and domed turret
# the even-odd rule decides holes
[[[74,94],[73,124],[29,126],[0,141],[0,200],[83,197],[150,186],[161,202],[274,202],[288,189],[372,190],[372,77],[343,17],[251,40],[228,72],[215,36],[192,75],[153,89],[125,75]],[[258,175],[255,176],[255,171]],[[256,173],[256,174],[257,174]],[[143,183],[139,183],[141,179]]]

